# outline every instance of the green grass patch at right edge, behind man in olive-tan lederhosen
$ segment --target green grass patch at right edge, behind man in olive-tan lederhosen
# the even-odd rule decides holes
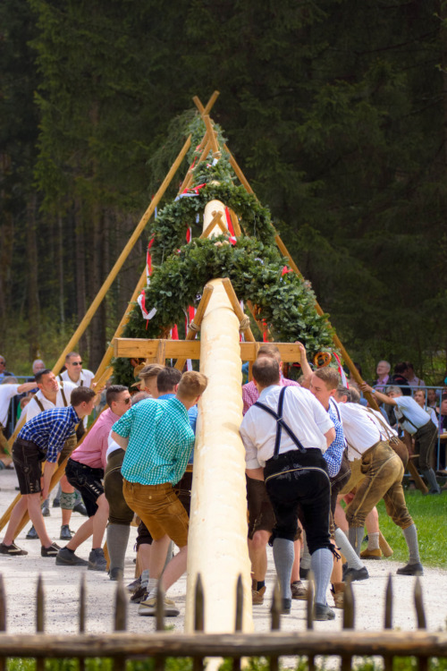
[[[422,564],[447,568],[447,491],[424,497],[418,490],[406,489],[405,498],[417,526]],[[406,563],[409,554],[401,529],[386,514],[384,501],[377,509],[380,530],[394,550],[392,558]]]

